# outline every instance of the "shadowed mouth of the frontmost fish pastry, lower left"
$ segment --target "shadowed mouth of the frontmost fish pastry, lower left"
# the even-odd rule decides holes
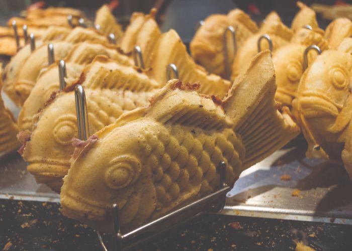
[[[81,196],[75,196],[68,192],[61,192],[60,197],[63,214],[75,219],[84,218],[87,220],[104,221],[107,218],[107,207],[103,206],[102,203],[95,202],[93,204]]]

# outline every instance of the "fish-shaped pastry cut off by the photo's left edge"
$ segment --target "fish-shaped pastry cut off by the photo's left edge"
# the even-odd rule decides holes
[[[3,65],[0,63],[0,77],[2,76]],[[0,156],[14,151],[19,147],[17,141],[17,124],[11,111],[9,111],[4,104],[1,97],[1,89],[3,82],[0,78]]]

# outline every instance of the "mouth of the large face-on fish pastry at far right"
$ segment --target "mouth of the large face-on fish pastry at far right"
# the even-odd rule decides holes
[[[326,115],[336,117],[338,115],[338,105],[322,94],[304,93],[299,97],[299,104],[303,115],[307,118]]]

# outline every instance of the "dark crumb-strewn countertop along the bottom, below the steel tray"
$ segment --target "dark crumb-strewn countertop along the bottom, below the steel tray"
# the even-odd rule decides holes
[[[0,200],[0,250],[102,250],[94,230],[58,208]],[[351,236],[350,225],[208,214],[133,250],[295,250],[295,240],[316,250],[350,250]],[[111,236],[104,238],[111,247]]]

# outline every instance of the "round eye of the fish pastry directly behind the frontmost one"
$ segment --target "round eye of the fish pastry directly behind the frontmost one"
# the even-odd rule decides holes
[[[76,123],[76,117],[72,114],[66,114],[57,118],[53,130],[55,141],[60,145],[71,144],[72,138],[78,134]]]

